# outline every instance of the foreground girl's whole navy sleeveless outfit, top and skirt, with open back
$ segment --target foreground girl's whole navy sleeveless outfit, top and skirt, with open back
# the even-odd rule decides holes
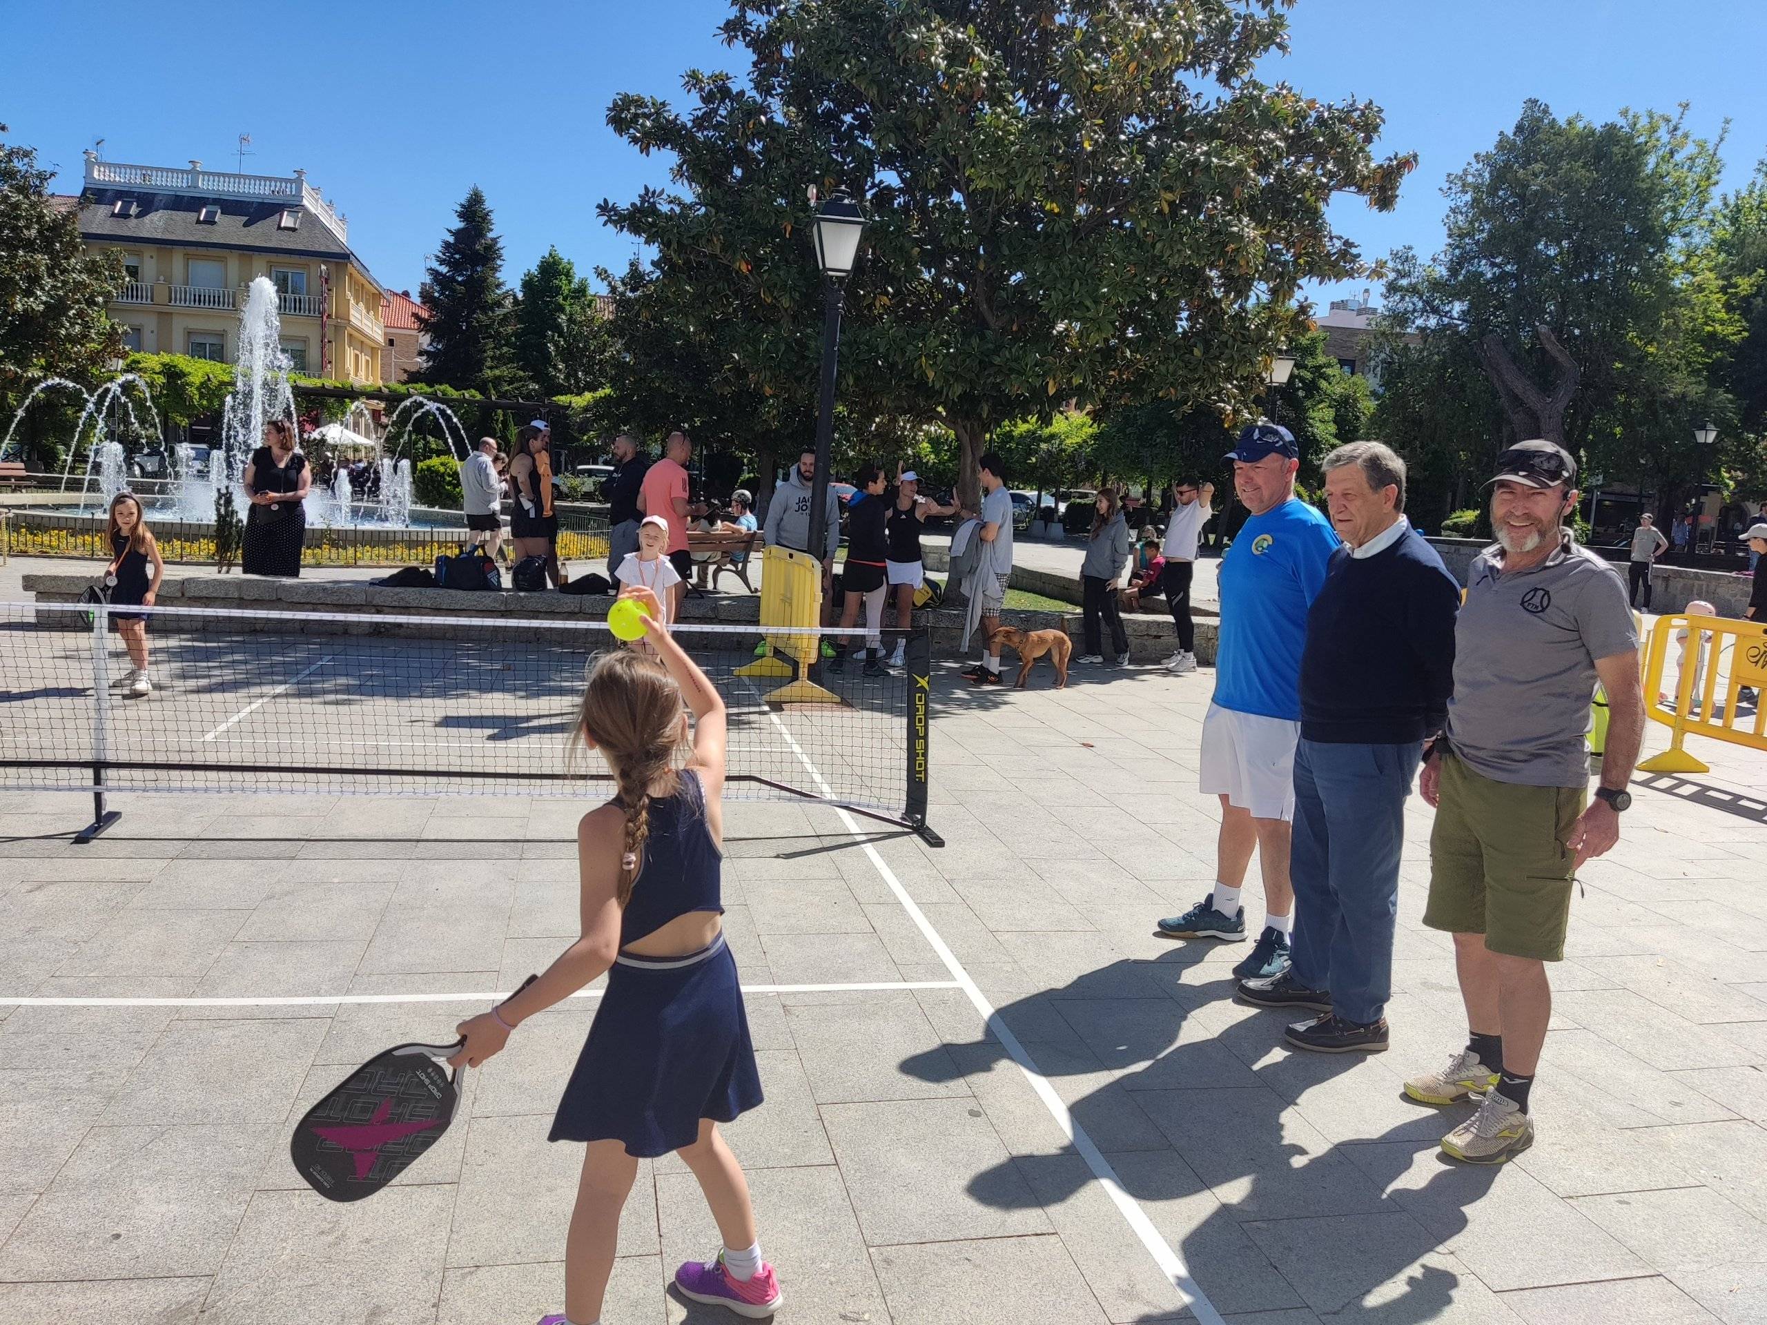
[[[689,912],[723,912],[723,857],[693,770],[650,802],[650,836],[620,947]],[[719,935],[680,958],[620,952],[550,1141],[622,1141],[640,1159],[700,1140],[700,1120],[733,1122],[762,1102],[737,961]]]

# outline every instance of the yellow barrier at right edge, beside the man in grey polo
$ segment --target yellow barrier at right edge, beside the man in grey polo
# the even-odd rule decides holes
[[[1675,700],[1668,703],[1663,691],[1663,668],[1668,647],[1677,629],[1687,631],[1675,678]],[[1709,652],[1707,652],[1709,650]],[[1730,666],[1723,666],[1725,652]],[[1723,678],[1723,705],[1719,696]],[[1767,749],[1767,707],[1756,701],[1751,730],[1737,726],[1737,693],[1744,687],[1756,694],[1767,687],[1767,624],[1739,622],[1728,617],[1657,617],[1650,632],[1650,652],[1645,659],[1645,717],[1673,730],[1670,746],[1638,765],[1640,772],[1710,772],[1710,768],[1682,749],[1689,733],[1726,740],[1732,746]],[[1695,694],[1698,691],[1698,694]]]

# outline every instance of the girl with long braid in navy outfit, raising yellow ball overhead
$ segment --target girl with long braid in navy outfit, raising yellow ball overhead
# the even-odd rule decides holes
[[[762,1102],[719,922],[724,703],[663,625],[656,594],[631,587],[620,597],[650,611],[656,657],[604,654],[583,693],[578,735],[618,784],[576,830],[583,936],[534,984],[463,1021],[466,1044],[449,1062],[481,1065],[527,1018],[606,972],[551,1127],[550,1140],[585,1141],[587,1152],[565,1238],[564,1314],[541,1325],[597,1325],[638,1161],[671,1150],[700,1180],[724,1242],[710,1263],[682,1265],[675,1286],[763,1318],[779,1309],[779,1281],[762,1260],[747,1180],[717,1131]]]

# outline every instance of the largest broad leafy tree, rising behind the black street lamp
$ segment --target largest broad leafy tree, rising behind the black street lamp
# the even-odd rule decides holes
[[[691,104],[622,95],[608,122],[673,157],[671,189],[603,203],[691,283],[733,396],[815,405],[820,318],[806,186],[862,196],[841,396],[944,424],[959,493],[1002,420],[1067,401],[1240,410],[1308,279],[1364,270],[1334,193],[1389,208],[1382,113],[1255,69],[1285,0],[733,0],[746,83]]]

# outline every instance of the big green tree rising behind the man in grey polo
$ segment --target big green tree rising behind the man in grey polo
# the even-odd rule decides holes
[[[1392,256],[1389,318],[1479,360],[1509,440],[1581,447],[1677,316],[1680,261],[1719,171],[1718,145],[1684,117],[1592,124],[1528,101],[1449,177],[1442,254]]]

